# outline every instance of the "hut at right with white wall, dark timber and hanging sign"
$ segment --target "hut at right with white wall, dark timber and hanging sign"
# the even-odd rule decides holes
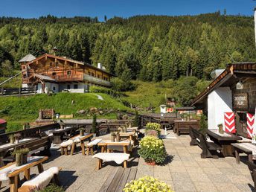
[[[255,105],[256,63],[228,64],[191,104],[208,115],[208,129],[218,129],[218,124],[224,127],[224,113],[231,112],[237,135],[245,137],[246,115],[255,115]]]

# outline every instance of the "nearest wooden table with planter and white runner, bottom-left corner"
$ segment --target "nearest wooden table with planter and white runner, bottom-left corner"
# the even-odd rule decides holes
[[[47,156],[44,157],[36,157],[33,156],[32,160],[29,160],[27,164],[24,164],[20,167],[16,167],[16,162],[7,164],[4,167],[0,168],[1,170],[8,170],[8,168],[13,167],[13,171],[8,173],[7,176],[10,179],[10,192],[17,192],[18,191],[18,185],[19,185],[19,174],[24,173],[25,179],[29,180],[31,179],[31,167],[37,166],[38,172],[43,172],[42,163],[46,160],[48,160]],[[0,181],[0,187],[1,187],[1,181]]]

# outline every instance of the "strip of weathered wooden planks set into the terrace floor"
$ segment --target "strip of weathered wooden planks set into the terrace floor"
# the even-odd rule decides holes
[[[103,183],[100,188],[100,192],[114,192],[114,191],[123,191],[124,186],[135,179],[137,173],[137,168],[115,168],[109,177],[106,179],[106,182]]]

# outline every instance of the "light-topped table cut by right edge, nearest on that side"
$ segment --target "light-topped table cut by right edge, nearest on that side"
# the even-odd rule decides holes
[[[240,164],[240,153],[246,153],[248,160],[253,162],[252,151],[256,151],[256,144],[252,143],[240,143],[240,144],[231,144],[234,147],[234,152],[236,156],[237,164]]]

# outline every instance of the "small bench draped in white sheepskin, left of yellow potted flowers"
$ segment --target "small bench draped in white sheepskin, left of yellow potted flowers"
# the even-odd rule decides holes
[[[102,167],[102,162],[115,161],[117,164],[124,163],[124,168],[127,167],[127,160],[129,159],[129,154],[127,153],[97,153],[92,156],[92,158],[97,158],[97,170]]]

